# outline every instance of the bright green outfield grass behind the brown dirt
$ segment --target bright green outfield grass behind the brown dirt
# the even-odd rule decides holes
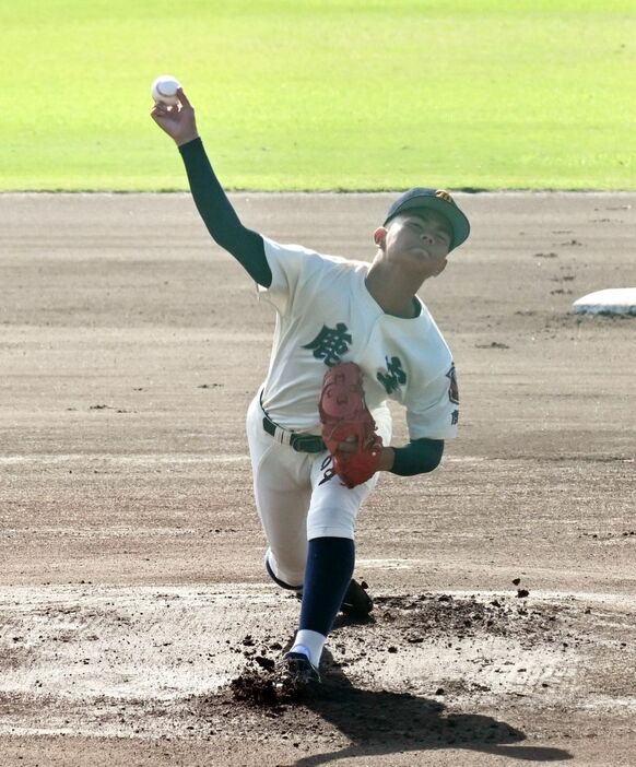
[[[603,10],[599,10],[599,9]],[[634,0],[0,0],[2,190],[636,189]]]

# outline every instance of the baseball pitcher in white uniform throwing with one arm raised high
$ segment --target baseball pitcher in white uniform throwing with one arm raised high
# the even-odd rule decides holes
[[[352,575],[356,517],[378,472],[431,472],[444,440],[457,434],[452,356],[416,292],[444,271],[470,226],[448,192],[417,188],[399,197],[373,233],[377,251],[370,264],[275,243],[242,224],[182,90],[178,97],[177,106],[157,104],[151,115],[179,148],[211,236],[276,312],[270,366],[248,409],[247,436],[269,546],[264,566],[275,583],[302,595],[298,630],[282,661],[283,682],[309,685],[319,682],[338,612],[367,615],[373,606]],[[374,427],[370,441],[335,437],[331,445],[326,434],[323,416],[340,400],[330,399],[323,379],[327,386],[326,374],[341,366],[362,381],[349,390],[358,392],[356,408]],[[330,385],[343,380],[329,375]],[[408,445],[390,446],[389,398],[407,411]],[[358,457],[365,461],[362,472]]]

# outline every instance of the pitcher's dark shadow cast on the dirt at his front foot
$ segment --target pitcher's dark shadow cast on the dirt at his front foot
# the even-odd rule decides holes
[[[356,688],[328,651],[323,663],[323,683],[304,704],[338,728],[351,743],[340,751],[301,758],[294,767],[434,748],[467,748],[531,762],[573,758],[561,748],[519,745],[526,740],[523,732],[493,717],[446,713],[438,700],[410,693]]]

